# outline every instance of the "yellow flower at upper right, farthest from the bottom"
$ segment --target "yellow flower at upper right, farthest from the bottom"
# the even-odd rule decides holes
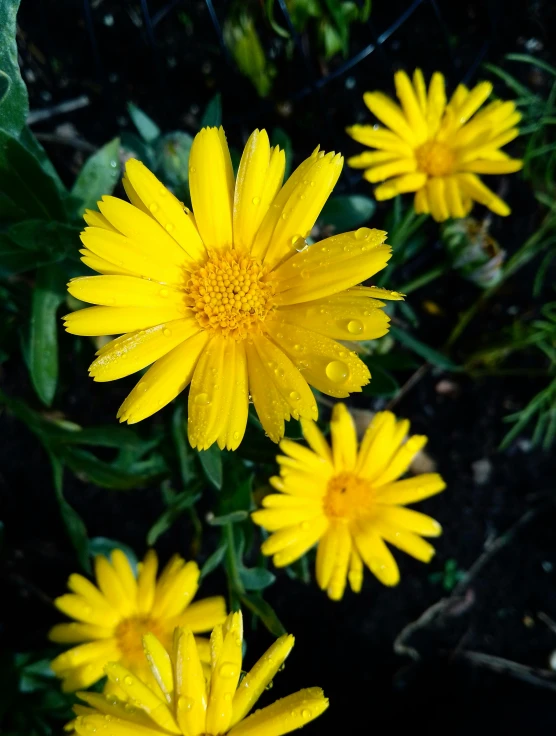
[[[394,76],[401,107],[382,92],[367,92],[369,110],[384,123],[353,125],[349,135],[378,151],[354,156],[348,164],[366,169],[367,181],[385,181],[377,199],[415,192],[415,210],[435,220],[465,217],[480,202],[498,215],[510,208],[483,184],[477,174],[511,174],[522,162],[500,148],[513,140],[521,120],[515,103],[496,100],[477,112],[492,92],[490,82],[469,90],[460,84],[446,103],[444,77],[432,75],[429,89],[416,69],[413,84],[405,72]]]

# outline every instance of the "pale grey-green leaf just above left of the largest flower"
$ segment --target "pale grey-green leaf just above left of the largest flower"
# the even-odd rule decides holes
[[[121,173],[119,156],[120,139],[114,138],[85,161],[71,190],[79,201],[77,216],[94,207],[103,194],[112,194]]]

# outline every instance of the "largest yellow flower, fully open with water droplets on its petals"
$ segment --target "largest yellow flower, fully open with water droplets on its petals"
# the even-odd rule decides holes
[[[343,159],[315,152],[281,186],[284,152],[266,132],[249,138],[234,183],[222,129],[204,128],[189,160],[193,213],[138,161],[114,197],[87,212],[83,261],[102,276],[69,291],[99,306],[68,315],[76,335],[125,333],[98,352],[90,373],[111,381],[154,363],[124,401],[138,422],[191,382],[189,439],[207,449],[241,442],[251,398],[266,433],[290,416],[317,417],[308,384],[331,396],[360,391],[369,371],[337,340],[388,331],[379,299],[356,286],[384,268],[386,233],[361,228],[306,247]]]

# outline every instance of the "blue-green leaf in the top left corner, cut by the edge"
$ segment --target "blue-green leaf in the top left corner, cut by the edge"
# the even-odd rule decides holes
[[[17,63],[17,11],[19,0],[0,2],[0,126],[17,136],[29,112],[27,89]]]

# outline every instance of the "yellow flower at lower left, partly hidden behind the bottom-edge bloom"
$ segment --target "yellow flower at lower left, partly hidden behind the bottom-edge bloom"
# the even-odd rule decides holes
[[[200,633],[224,621],[223,598],[191,603],[199,582],[195,562],[186,563],[174,555],[158,580],[157,568],[156,553],[149,550],[136,577],[126,555],[116,549],[111,562],[103,555],[95,558],[98,587],[82,575],[70,575],[72,592],[56,598],[54,605],[75,622],[57,624],[49,632],[50,640],[59,644],[82,642],[51,662],[65,692],[92,685],[104,676],[107,662],[120,662],[137,674],[148,673],[144,634],[155,634],[169,649],[176,626]],[[209,661],[208,641],[199,639],[199,646]]]

